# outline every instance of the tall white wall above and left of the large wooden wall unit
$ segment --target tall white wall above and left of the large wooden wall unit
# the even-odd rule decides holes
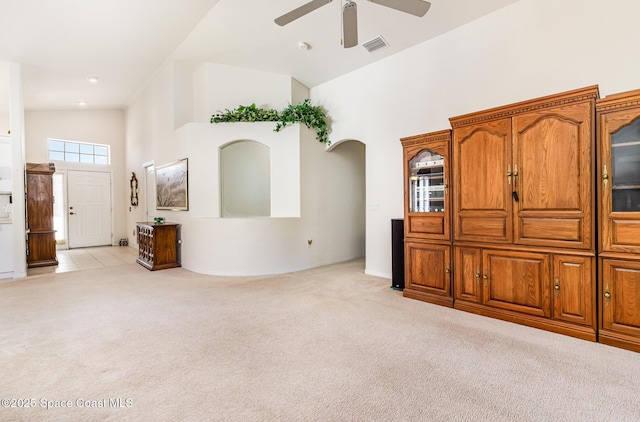
[[[367,145],[366,271],[390,277],[390,220],[403,215],[401,137],[448,118],[583,86],[640,88],[640,2],[521,0],[311,90],[332,139]]]

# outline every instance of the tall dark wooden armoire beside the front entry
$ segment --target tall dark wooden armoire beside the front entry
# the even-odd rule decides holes
[[[58,265],[53,229],[53,163],[27,163],[27,265]]]

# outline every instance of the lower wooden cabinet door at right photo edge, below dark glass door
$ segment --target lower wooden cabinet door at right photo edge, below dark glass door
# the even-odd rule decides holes
[[[602,260],[600,329],[640,344],[640,262]]]

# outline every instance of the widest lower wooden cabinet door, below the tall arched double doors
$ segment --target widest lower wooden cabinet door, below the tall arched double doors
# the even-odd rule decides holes
[[[541,317],[551,316],[549,255],[483,251],[484,303]]]

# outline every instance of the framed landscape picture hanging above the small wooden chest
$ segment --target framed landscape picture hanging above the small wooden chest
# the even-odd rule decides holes
[[[188,162],[156,167],[156,209],[187,211],[189,209]]]

